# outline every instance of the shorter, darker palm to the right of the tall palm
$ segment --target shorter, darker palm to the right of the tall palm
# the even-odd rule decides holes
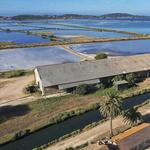
[[[124,122],[133,126],[142,121],[142,115],[137,111],[137,108],[131,108],[126,111],[123,111]]]

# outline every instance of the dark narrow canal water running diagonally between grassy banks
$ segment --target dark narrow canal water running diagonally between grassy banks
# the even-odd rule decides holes
[[[146,93],[132,98],[127,98],[123,102],[123,108],[127,109],[136,105],[140,105],[147,101],[149,97],[150,93]],[[0,149],[30,150],[43,144],[49,143],[50,141],[60,138],[63,135],[69,134],[75,130],[83,129],[85,126],[93,122],[98,122],[102,119],[104,118],[99,113],[99,110],[90,111],[83,115],[68,119],[62,123],[43,128],[22,139],[3,145],[0,147]]]

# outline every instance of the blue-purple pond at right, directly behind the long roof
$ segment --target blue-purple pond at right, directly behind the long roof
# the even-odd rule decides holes
[[[150,53],[150,40],[101,42],[101,43],[71,45],[70,47],[76,51],[87,54],[96,54],[98,52],[109,52],[119,55],[133,55],[133,54]]]

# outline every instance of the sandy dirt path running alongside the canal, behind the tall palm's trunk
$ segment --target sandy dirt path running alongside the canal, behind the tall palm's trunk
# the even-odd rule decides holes
[[[150,113],[150,104],[140,108],[139,111],[145,115]],[[125,125],[123,119],[118,117],[113,120],[113,129]],[[109,121],[104,122],[86,132],[71,137],[69,139],[58,142],[56,145],[50,146],[46,150],[65,150],[68,147],[76,147],[83,143],[89,142],[109,131]],[[89,149],[88,149],[89,150]],[[94,149],[93,149],[94,150]]]

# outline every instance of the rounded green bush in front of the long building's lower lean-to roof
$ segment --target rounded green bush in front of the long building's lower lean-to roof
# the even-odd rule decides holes
[[[86,95],[88,93],[88,85],[81,84],[77,86],[75,93],[78,95]]]

